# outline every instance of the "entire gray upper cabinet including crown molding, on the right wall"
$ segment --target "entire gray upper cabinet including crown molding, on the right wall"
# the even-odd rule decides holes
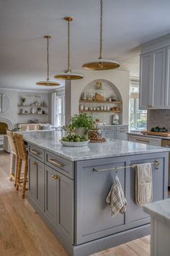
[[[170,108],[169,74],[170,35],[141,46],[140,109]]]

